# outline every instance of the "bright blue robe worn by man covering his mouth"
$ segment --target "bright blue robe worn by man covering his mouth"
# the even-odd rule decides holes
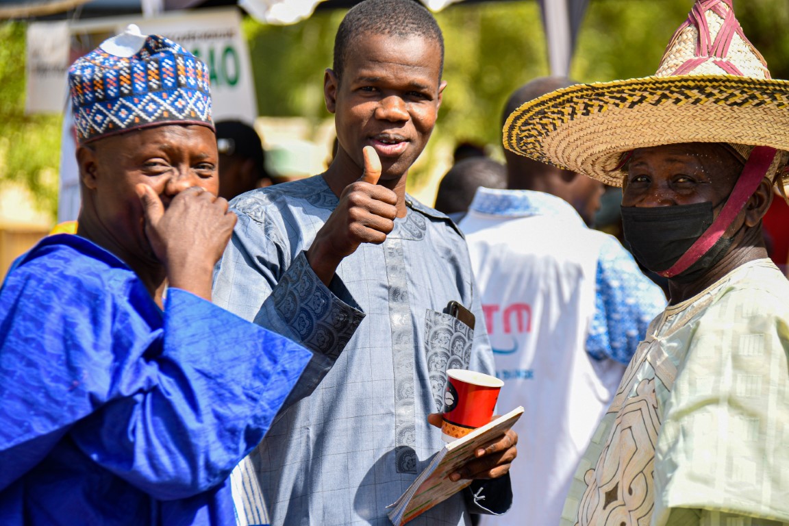
[[[0,524],[234,524],[234,465],[310,353],[47,237],[0,289]]]

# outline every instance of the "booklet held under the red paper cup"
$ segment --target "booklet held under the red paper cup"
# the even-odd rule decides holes
[[[424,468],[409,486],[406,493],[402,494],[394,504],[387,505],[387,508],[391,508],[388,515],[392,524],[394,526],[406,524],[413,517],[468,487],[472,483],[471,480],[460,479],[452,482],[449,479],[450,474],[472,460],[474,451],[503,435],[522,414],[523,407],[515,408],[491,423],[477,427],[465,437],[443,446],[428,467]]]

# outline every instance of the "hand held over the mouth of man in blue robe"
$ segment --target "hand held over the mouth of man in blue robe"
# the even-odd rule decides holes
[[[165,209],[150,186],[139,184],[135,190],[143,207],[145,235],[166,269],[169,285],[210,301],[214,265],[236,224],[227,201],[193,186]]]

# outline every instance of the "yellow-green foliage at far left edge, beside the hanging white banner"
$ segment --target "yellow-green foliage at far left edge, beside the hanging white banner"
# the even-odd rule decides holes
[[[62,117],[24,114],[25,30],[21,22],[0,24],[0,188],[24,185],[54,219]]]

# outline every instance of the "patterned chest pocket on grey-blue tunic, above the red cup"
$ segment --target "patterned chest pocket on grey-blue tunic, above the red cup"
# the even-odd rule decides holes
[[[424,355],[436,411],[443,408],[447,369],[468,369],[474,330],[454,316],[428,309],[424,314]]]

